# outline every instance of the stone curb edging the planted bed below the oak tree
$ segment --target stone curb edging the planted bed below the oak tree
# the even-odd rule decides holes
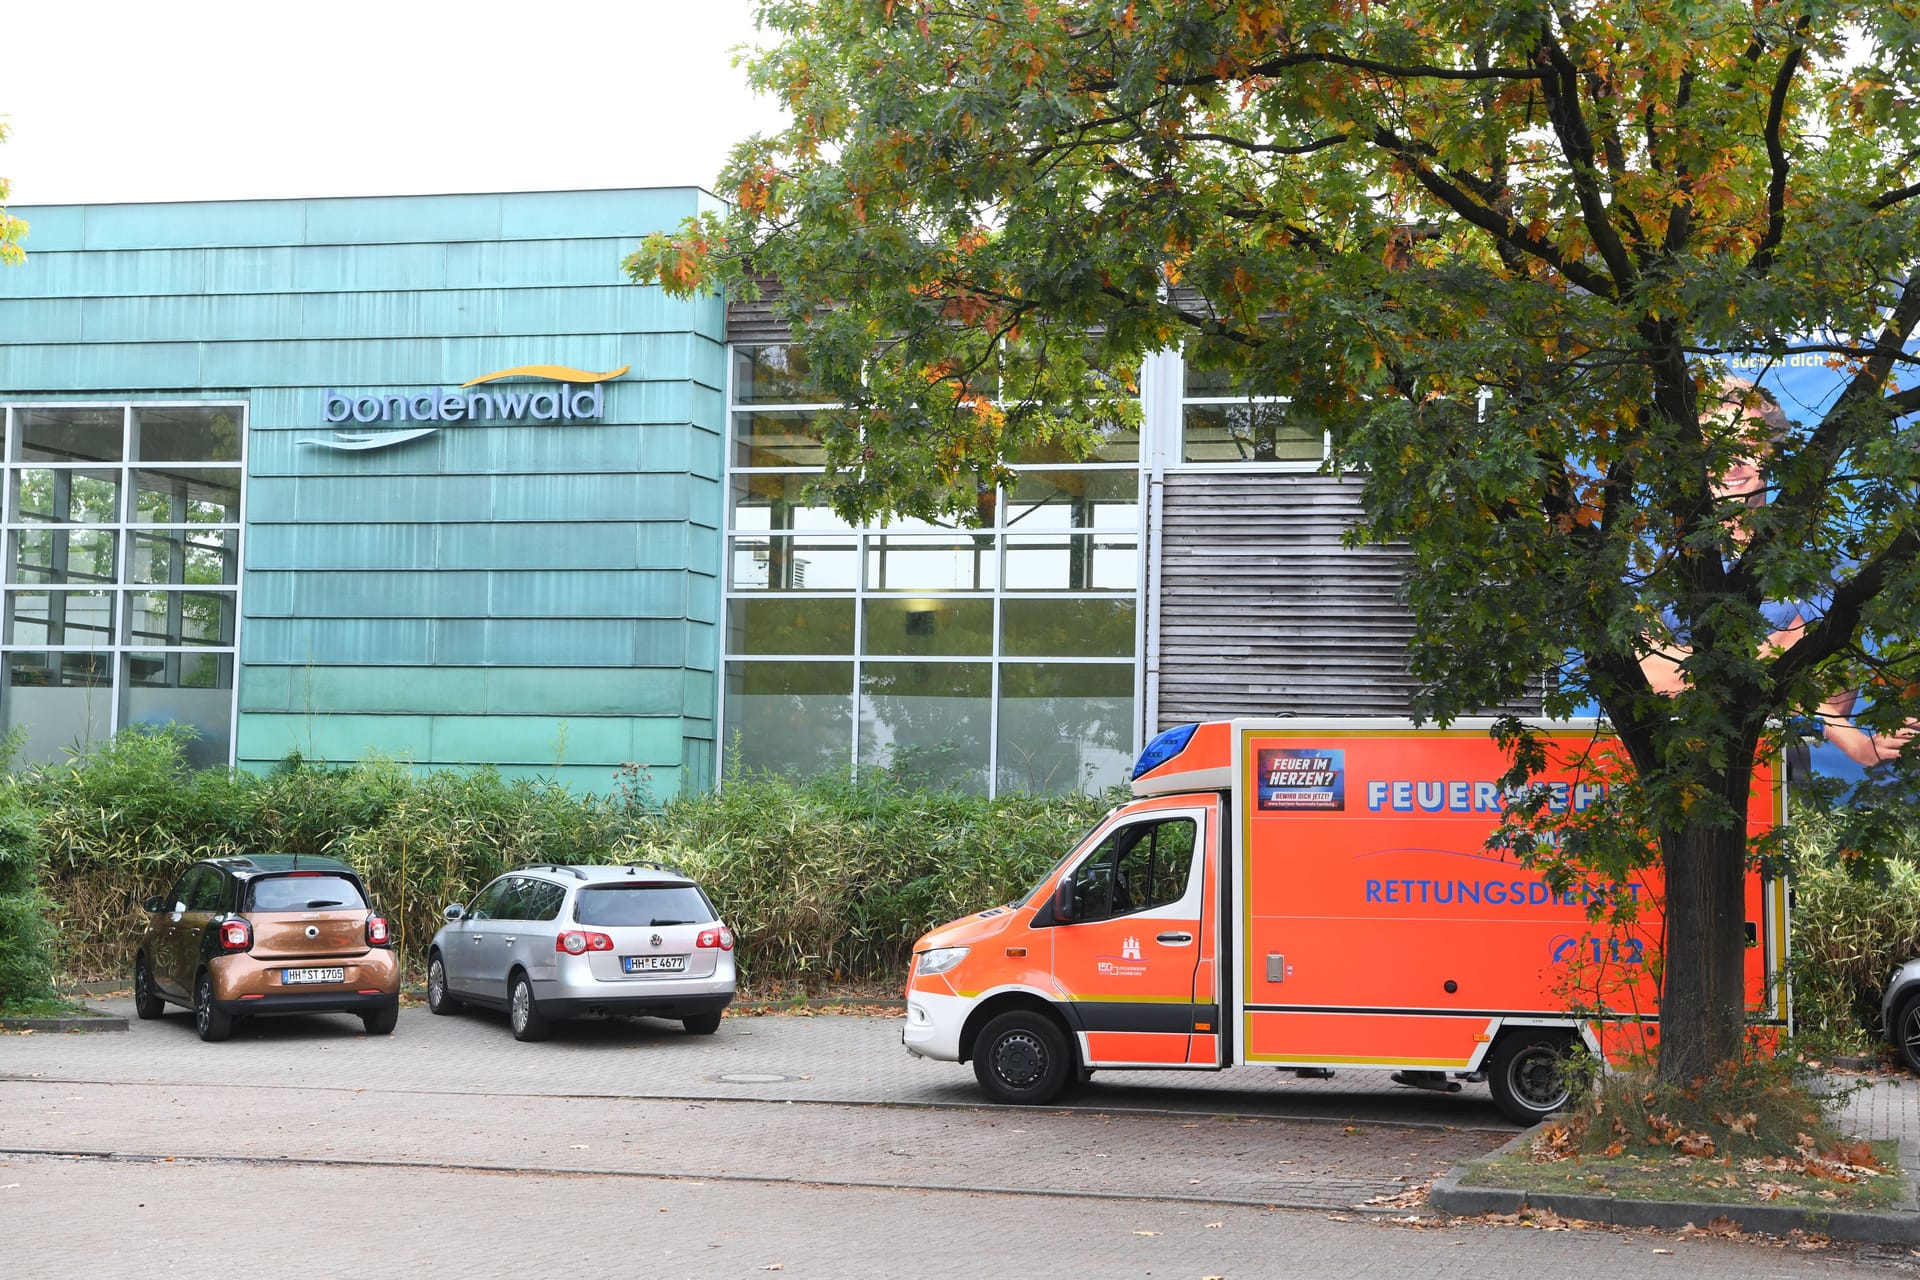
[[[1455,1217],[1478,1217],[1482,1213],[1523,1213],[1544,1209],[1563,1219],[1582,1219],[1607,1226],[1659,1226],[1680,1230],[1684,1226],[1705,1226],[1715,1219],[1736,1222],[1743,1232],[1763,1232],[1786,1236],[1788,1232],[1807,1232],[1832,1236],[1834,1240],[1853,1240],[1859,1244],[1920,1244],[1920,1203],[1914,1196],[1920,1188],[1920,1150],[1912,1142],[1901,1142],[1901,1169],[1907,1173],[1908,1192],[1903,1209],[1887,1213],[1857,1213],[1849,1209],[1820,1211],[1799,1205],[1720,1205],[1697,1199],[1624,1199],[1619,1196],[1567,1196],[1559,1192],[1517,1192],[1505,1186],[1461,1186],[1461,1178],[1476,1165],[1484,1165],[1526,1150],[1546,1121],[1521,1132],[1513,1142],[1501,1144],[1496,1151],[1463,1161],[1434,1180],[1427,1201]]]

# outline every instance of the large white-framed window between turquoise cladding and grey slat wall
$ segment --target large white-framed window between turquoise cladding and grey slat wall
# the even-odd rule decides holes
[[[1089,459],[1014,459],[979,528],[852,528],[820,493],[831,405],[799,353],[735,345],[732,367],[724,764],[904,768],[973,791],[1123,781],[1140,432],[1116,415]]]

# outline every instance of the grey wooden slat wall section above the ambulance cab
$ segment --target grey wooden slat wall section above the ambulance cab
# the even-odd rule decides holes
[[[1407,553],[1340,545],[1359,486],[1169,474],[1160,549],[1160,727],[1223,716],[1404,716]]]

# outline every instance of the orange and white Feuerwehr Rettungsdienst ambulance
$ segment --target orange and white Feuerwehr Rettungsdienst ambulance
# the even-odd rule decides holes
[[[972,1061],[1002,1103],[1094,1071],[1365,1067],[1484,1079],[1530,1125],[1574,1046],[1620,1065],[1657,1040],[1657,871],[1549,885],[1488,850],[1509,800],[1490,720],[1227,720],[1156,737],[1135,798],[1020,902],[914,944],[904,1044]],[[1592,722],[1540,729],[1548,806],[1578,818],[1624,770]],[[1780,821],[1755,771],[1749,835]],[[1551,839],[1551,837],[1549,837]],[[1788,898],[1745,885],[1747,1000],[1786,1027]]]

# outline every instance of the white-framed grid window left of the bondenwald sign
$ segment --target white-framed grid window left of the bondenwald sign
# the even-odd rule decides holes
[[[244,405],[0,405],[0,722],[21,760],[180,723],[232,762]]]

